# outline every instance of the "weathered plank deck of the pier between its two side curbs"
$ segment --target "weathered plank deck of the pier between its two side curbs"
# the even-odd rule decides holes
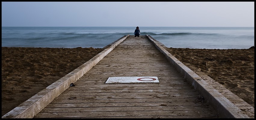
[[[158,76],[160,83],[105,84],[113,76]],[[75,85],[35,118],[217,118],[146,36],[128,37]]]

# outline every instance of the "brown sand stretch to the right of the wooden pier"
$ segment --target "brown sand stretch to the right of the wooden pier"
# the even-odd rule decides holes
[[[254,107],[254,46],[249,49],[166,49],[195,73],[204,72]]]

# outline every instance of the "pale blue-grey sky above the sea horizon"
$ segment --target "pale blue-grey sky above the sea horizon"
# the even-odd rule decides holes
[[[254,2],[2,2],[2,26],[254,27]]]

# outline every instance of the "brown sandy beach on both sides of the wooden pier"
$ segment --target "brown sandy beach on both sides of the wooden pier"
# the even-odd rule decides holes
[[[191,70],[204,72],[254,107],[254,47],[166,49]],[[102,50],[2,47],[2,116]]]

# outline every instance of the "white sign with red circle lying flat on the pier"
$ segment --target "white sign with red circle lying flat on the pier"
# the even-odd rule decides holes
[[[106,83],[159,82],[157,76],[109,77]]]

